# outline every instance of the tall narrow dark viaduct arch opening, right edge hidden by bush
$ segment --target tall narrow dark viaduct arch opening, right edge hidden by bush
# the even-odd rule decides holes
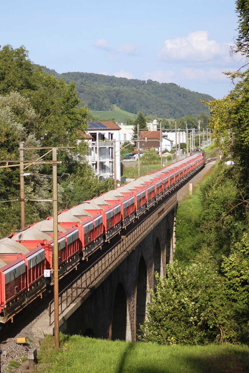
[[[137,271],[137,296],[136,296],[136,333],[141,334],[140,324],[143,324],[146,318],[147,302],[149,301],[149,290],[147,268],[144,258],[141,257]]]

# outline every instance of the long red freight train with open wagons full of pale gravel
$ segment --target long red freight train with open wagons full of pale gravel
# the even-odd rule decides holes
[[[59,279],[205,165],[205,152],[84,201],[58,214]],[[5,323],[46,291],[44,270],[52,270],[53,217],[0,239],[0,322]]]

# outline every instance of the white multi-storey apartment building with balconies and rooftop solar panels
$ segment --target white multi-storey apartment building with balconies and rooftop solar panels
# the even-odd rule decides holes
[[[121,179],[120,172],[120,127],[114,122],[87,122],[85,141],[88,144],[88,163],[100,180],[111,177]],[[116,165],[114,170],[114,163]],[[116,174],[116,175],[115,175]]]

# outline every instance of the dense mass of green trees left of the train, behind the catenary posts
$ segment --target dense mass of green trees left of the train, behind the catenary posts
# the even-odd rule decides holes
[[[60,146],[61,138],[70,145],[84,140],[88,109],[77,97],[75,84],[45,73],[28,58],[24,46],[0,47],[0,158],[19,159],[19,142],[24,147]],[[113,181],[100,182],[84,161],[84,141],[74,150],[58,150],[58,203],[71,207],[113,188]],[[45,151],[46,152],[46,151]],[[25,160],[38,159],[44,151],[25,150]],[[45,160],[51,159],[47,156]],[[31,166],[29,173],[51,176],[49,165]],[[20,182],[18,167],[0,169],[0,236],[20,229]],[[25,198],[51,198],[50,178],[30,175],[25,178]],[[4,202],[5,201],[5,202]],[[9,201],[9,202],[6,202]],[[25,224],[45,219],[52,204],[25,202]]]

